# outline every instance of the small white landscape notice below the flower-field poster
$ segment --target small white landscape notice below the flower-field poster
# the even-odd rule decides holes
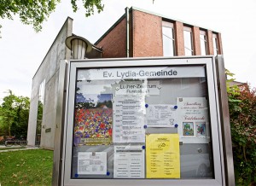
[[[78,174],[106,175],[107,152],[79,152]]]

